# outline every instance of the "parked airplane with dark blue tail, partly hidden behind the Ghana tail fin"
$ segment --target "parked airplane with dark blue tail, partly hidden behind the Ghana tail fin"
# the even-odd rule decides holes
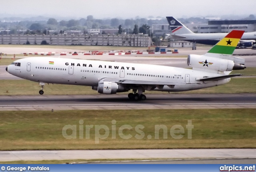
[[[166,17],[166,19],[172,30],[170,35],[174,39],[205,45],[215,45],[227,35],[227,33],[194,33],[174,17]],[[168,36],[169,34],[166,35]],[[256,44],[255,40],[256,32],[244,33],[237,47],[252,47],[253,44]]]

